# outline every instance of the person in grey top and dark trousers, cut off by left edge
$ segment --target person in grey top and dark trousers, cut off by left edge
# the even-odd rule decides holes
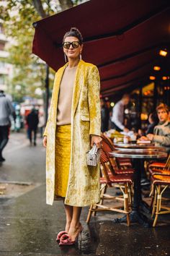
[[[15,119],[11,101],[6,98],[4,90],[0,90],[0,162],[5,161],[2,150],[4,150],[9,140],[10,115],[13,115]]]

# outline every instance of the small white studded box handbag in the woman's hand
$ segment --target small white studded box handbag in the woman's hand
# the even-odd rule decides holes
[[[86,161],[88,166],[97,166],[100,158],[100,149],[94,144],[93,148],[86,153]]]

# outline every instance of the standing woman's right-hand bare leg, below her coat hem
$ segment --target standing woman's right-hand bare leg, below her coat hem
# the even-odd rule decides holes
[[[68,231],[69,236],[71,236],[71,240],[74,241],[76,236],[79,234],[81,230],[80,216],[81,216],[81,207],[73,206],[73,216],[71,220],[70,229]]]

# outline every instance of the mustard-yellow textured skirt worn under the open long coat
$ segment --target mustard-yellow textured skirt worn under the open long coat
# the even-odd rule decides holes
[[[71,124],[60,125],[55,135],[55,196],[66,197],[71,157]]]

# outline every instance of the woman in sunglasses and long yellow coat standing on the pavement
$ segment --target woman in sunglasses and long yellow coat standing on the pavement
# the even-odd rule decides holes
[[[63,37],[68,62],[55,74],[43,140],[47,203],[63,198],[66,210],[66,229],[57,238],[61,245],[74,244],[81,232],[81,208],[99,202],[99,165],[86,164],[86,152],[102,143],[99,72],[81,60],[82,49],[81,33],[72,27]]]

